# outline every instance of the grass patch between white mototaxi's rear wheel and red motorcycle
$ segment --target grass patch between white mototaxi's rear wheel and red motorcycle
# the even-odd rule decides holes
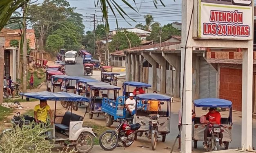
[[[110,128],[105,127],[105,126],[101,126],[98,125],[94,122],[90,122],[90,121],[86,121],[84,122],[83,126],[89,126],[91,128],[93,128],[93,132],[97,133],[97,138],[94,138],[94,145],[98,145],[99,143],[99,138],[100,138],[100,134],[103,133],[104,131],[110,130]]]

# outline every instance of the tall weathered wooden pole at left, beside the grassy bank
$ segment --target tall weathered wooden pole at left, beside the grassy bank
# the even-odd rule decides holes
[[[23,7],[23,49],[22,49],[22,90],[27,92],[27,23],[26,23],[26,14],[27,14],[27,3]]]

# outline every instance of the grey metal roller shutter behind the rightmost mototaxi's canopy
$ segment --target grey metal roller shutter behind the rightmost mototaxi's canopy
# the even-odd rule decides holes
[[[216,74],[205,59],[200,59],[199,98],[216,98]]]

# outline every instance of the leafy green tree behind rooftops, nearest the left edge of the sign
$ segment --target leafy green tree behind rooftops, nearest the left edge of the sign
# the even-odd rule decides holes
[[[154,40],[154,42],[159,43],[160,30],[160,27],[155,27],[147,37],[147,40]],[[164,42],[165,40],[169,39],[171,35],[181,35],[181,32],[177,28],[174,28],[171,24],[164,25],[161,32],[161,41]]]

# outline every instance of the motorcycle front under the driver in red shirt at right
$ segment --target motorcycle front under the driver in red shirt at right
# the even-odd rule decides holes
[[[220,139],[219,135],[220,132],[223,132],[224,130],[221,129],[221,127],[223,127],[223,125],[211,125],[208,124],[209,126],[209,132],[211,137],[207,137],[207,143],[208,143],[208,147],[206,148],[207,151],[218,151],[220,150]],[[204,143],[203,143],[204,145]]]

